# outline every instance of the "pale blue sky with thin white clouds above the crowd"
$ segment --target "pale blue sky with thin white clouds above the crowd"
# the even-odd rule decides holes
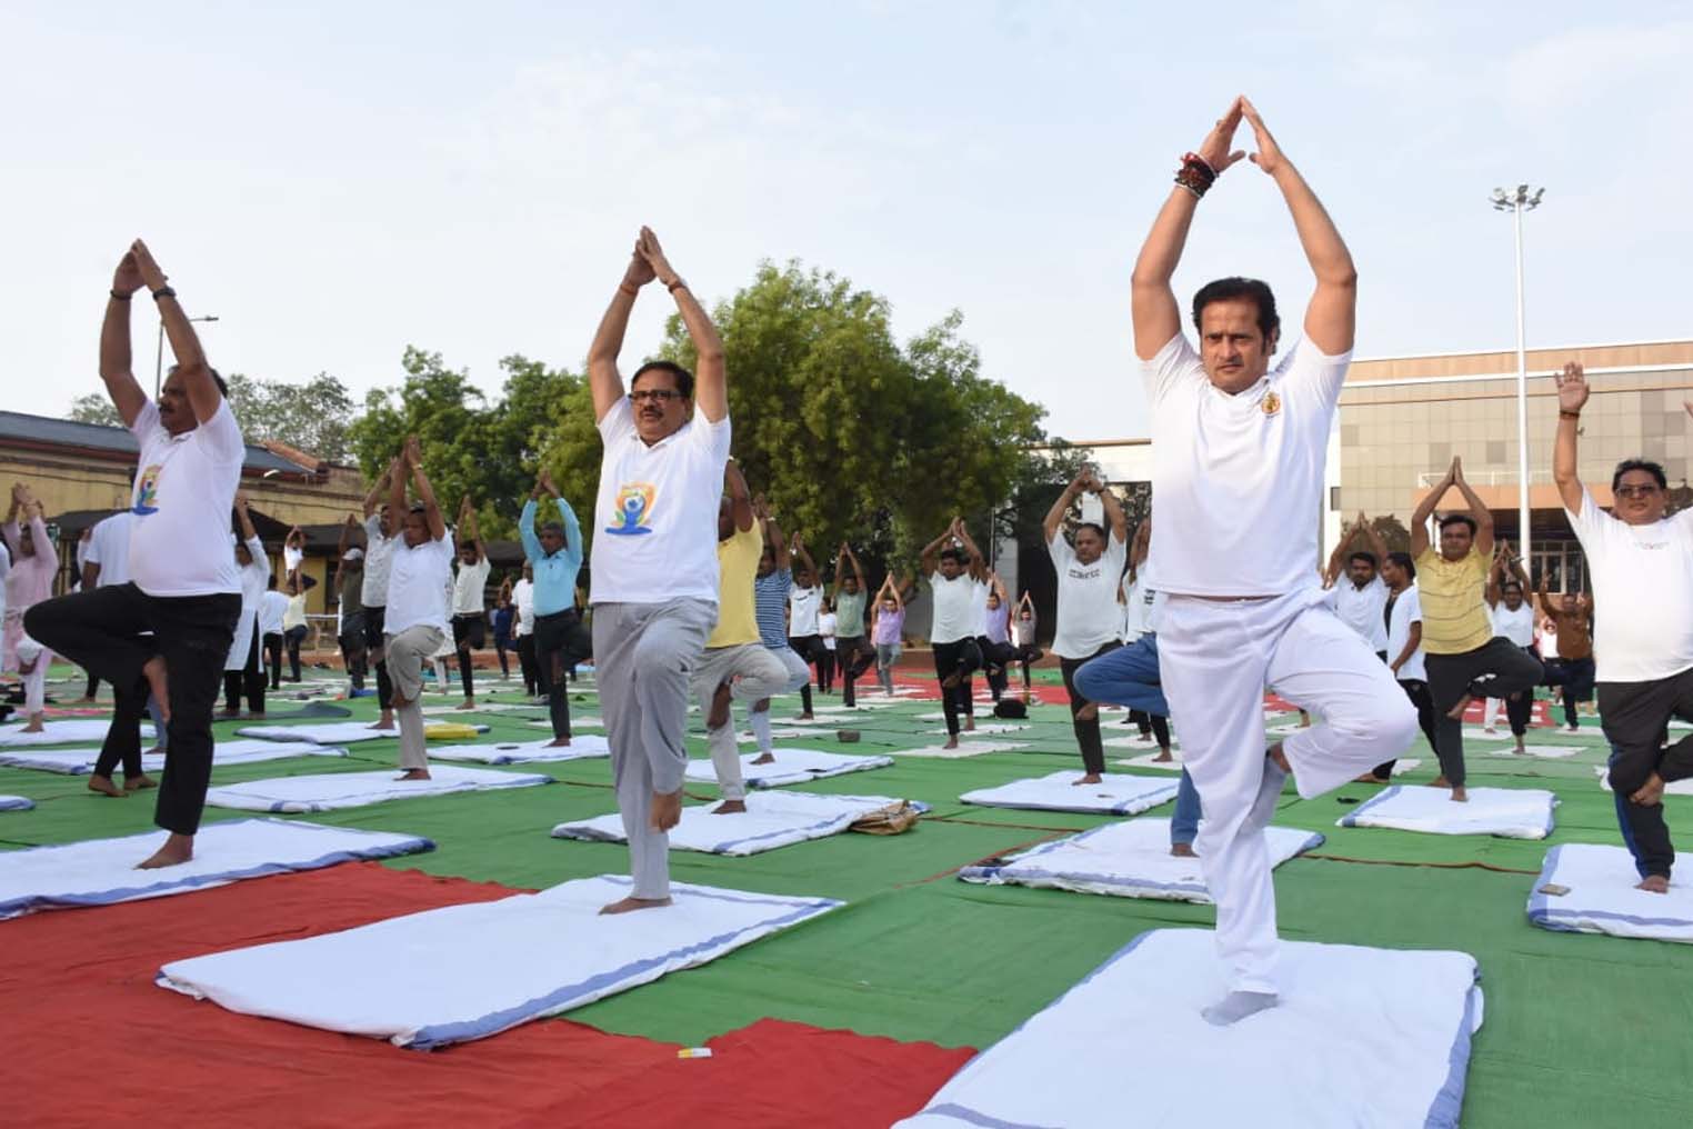
[[[577,367],[650,223],[704,296],[797,257],[885,295],[901,335],[957,306],[1055,433],[1139,435],[1129,266],[1239,91],[1353,247],[1359,355],[1514,344],[1486,195],[1524,179],[1547,188],[1530,345],[1688,335],[1688,5],[1192,12],[12,3],[5,406],[98,389],[102,296],[137,234],[222,318],[213,364],[362,393],[406,344],[488,389],[510,352]],[[1177,289],[1234,273],[1297,322],[1309,273],[1248,164],[1200,207]],[[630,355],[665,311],[643,300]],[[151,364],[151,311],[135,328]]]

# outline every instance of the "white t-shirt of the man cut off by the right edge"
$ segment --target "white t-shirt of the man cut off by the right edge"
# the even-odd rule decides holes
[[[1629,525],[1581,487],[1569,528],[1593,577],[1600,682],[1651,682],[1693,667],[1693,509]]]

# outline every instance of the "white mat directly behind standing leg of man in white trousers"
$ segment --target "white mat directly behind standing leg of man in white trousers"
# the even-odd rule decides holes
[[[1297,828],[1268,828],[1265,834],[1271,867],[1322,845],[1321,834]],[[989,885],[1034,885],[1210,906],[1199,860],[1170,853],[1168,819],[1107,823],[1041,843],[997,865],[965,867],[958,877]]]

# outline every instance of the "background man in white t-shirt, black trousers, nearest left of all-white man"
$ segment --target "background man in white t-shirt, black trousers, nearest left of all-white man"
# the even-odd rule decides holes
[[[1104,526],[1082,521],[1075,526],[1075,547],[1063,535],[1070,504],[1082,496],[1104,504]],[[1058,655],[1065,691],[1070,694],[1070,724],[1082,750],[1082,777],[1077,784],[1099,784],[1106,772],[1106,746],[1099,736],[1099,704],[1075,687],[1075,672],[1089,658],[1097,658],[1117,643],[1117,577],[1128,557],[1129,520],[1117,496],[1106,489],[1092,469],[1084,469],[1058,496],[1041,523],[1046,552],[1058,570],[1058,628],[1051,652]]]

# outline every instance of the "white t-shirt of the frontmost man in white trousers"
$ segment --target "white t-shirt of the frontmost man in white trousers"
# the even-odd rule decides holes
[[[1212,386],[1182,333],[1141,364],[1163,591],[1282,596],[1321,582],[1322,469],[1349,362],[1300,340],[1236,396]]]

